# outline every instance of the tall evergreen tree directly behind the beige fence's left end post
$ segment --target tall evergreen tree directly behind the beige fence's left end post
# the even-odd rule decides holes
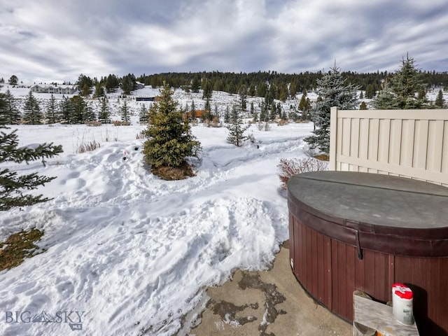
[[[323,153],[330,152],[330,111],[333,106],[342,110],[353,110],[358,106],[356,90],[358,87],[346,85],[339,68],[335,65],[321,79],[317,80],[316,92],[320,102],[312,109],[316,125],[314,135],[304,139],[311,148],[318,148]]]

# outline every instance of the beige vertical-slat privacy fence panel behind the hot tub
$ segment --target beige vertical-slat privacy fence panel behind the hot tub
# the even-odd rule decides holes
[[[448,110],[331,109],[330,170],[448,186]]]

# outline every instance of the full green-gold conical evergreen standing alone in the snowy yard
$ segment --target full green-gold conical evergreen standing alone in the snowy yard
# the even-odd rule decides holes
[[[187,158],[197,156],[201,148],[200,142],[191,134],[190,125],[183,122],[182,113],[177,109],[178,103],[172,94],[165,84],[160,90],[160,101],[151,107],[148,128],[143,131],[148,138],[144,143],[144,159],[151,166],[153,174],[159,176],[161,167],[189,167]]]

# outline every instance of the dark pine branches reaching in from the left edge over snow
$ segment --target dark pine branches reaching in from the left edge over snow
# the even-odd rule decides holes
[[[4,108],[6,102],[4,94],[0,94],[0,110]],[[6,129],[5,118],[0,116],[0,128]],[[45,165],[45,158],[62,153],[62,146],[52,144],[40,144],[36,148],[18,148],[17,130],[7,134],[0,132],[0,165],[3,162],[30,162],[42,159]],[[55,179],[55,177],[38,176],[36,173],[18,175],[8,168],[0,168],[0,211],[6,211],[14,207],[27,207],[36,203],[46,202],[49,199],[43,195],[24,195],[24,190],[34,190],[38,186],[44,186]]]

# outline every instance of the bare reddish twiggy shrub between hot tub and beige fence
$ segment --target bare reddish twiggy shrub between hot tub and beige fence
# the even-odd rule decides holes
[[[315,158],[303,159],[281,159],[279,165],[279,178],[281,181],[281,188],[286,189],[286,183],[291,176],[307,173],[319,172],[328,169],[328,162],[317,160]]]

